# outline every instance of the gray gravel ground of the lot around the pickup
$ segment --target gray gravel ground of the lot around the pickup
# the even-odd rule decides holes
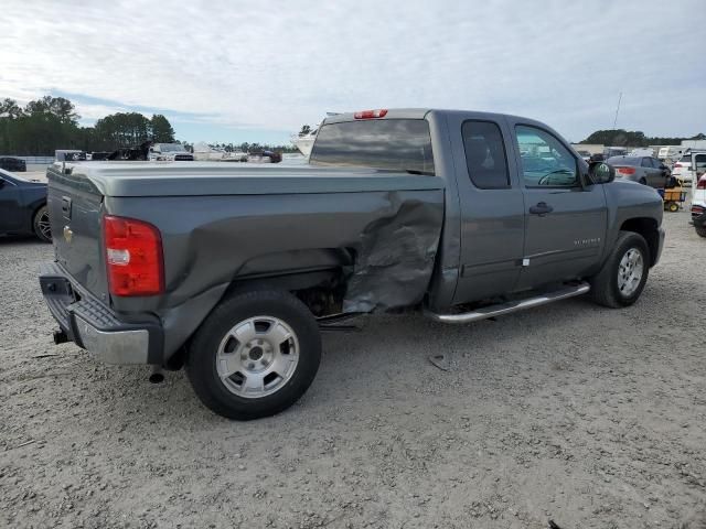
[[[665,217],[633,307],[371,319],[249,423],[183,373],[153,386],[52,345],[52,249],[0,239],[0,527],[704,528],[706,240]]]

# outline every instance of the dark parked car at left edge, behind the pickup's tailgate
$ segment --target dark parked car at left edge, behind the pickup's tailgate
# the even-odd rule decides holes
[[[45,183],[0,170],[0,234],[34,234],[51,242]]]

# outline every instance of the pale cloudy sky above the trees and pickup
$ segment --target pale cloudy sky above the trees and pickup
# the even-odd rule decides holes
[[[424,107],[706,132],[705,0],[3,0],[0,98],[81,122],[165,115],[180,140],[285,143],[327,111]]]

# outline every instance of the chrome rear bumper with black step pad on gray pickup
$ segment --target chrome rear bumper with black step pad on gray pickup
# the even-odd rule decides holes
[[[40,285],[67,338],[106,364],[162,364],[163,332],[157,319],[126,322],[72,281],[57,263],[44,264]]]

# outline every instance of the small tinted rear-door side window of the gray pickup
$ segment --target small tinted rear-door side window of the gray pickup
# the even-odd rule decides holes
[[[510,187],[507,155],[498,125],[490,121],[466,121],[461,127],[468,175],[475,187]]]

